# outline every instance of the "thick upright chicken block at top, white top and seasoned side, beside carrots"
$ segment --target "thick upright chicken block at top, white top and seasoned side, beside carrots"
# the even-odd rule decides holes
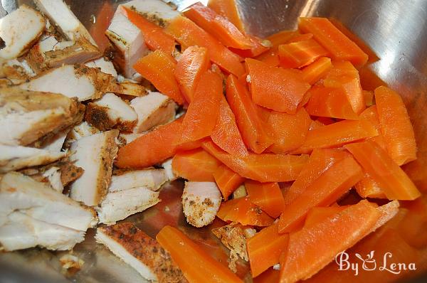
[[[112,42],[114,48],[114,63],[120,70],[120,73],[129,79],[139,78],[133,65],[144,55],[147,55],[149,49],[145,45],[144,36],[125,16],[122,8],[119,6],[115,12],[110,26],[105,35]]]

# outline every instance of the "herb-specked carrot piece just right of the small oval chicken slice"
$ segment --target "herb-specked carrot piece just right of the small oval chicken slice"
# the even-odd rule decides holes
[[[270,226],[274,219],[263,212],[258,206],[251,203],[249,198],[236,198],[221,203],[216,214],[223,221],[241,223],[241,225]]]

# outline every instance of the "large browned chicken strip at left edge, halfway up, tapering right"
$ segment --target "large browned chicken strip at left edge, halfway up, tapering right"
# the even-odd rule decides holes
[[[0,89],[0,141],[27,145],[75,123],[82,111],[75,100],[54,93]]]

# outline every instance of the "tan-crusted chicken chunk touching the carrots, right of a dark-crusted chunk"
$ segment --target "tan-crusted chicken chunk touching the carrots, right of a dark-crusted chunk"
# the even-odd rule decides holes
[[[142,133],[152,127],[167,124],[175,117],[176,104],[160,92],[149,92],[143,97],[135,97],[130,105],[138,115],[138,122],[132,132]]]

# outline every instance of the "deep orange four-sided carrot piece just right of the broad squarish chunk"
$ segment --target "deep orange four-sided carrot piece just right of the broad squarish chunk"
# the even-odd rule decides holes
[[[347,95],[340,88],[315,85],[307,91],[310,97],[305,108],[308,114],[317,117],[357,120]]]

